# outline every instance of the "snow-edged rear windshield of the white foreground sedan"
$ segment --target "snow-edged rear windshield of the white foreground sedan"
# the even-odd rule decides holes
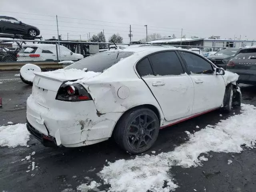
[[[88,71],[103,72],[104,70],[110,68],[112,65],[116,64],[123,58],[131,56],[134,52],[101,52],[90,57],[86,57],[74,64],[68,66],[65,69],[84,69],[87,68]]]

